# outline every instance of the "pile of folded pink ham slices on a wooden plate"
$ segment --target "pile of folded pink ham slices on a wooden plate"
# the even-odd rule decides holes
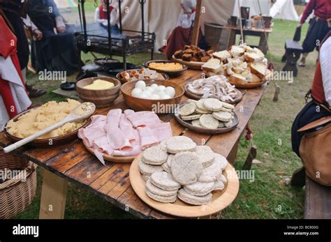
[[[153,112],[110,110],[107,116],[91,117],[91,123],[78,131],[78,137],[93,149],[103,165],[103,156],[136,156],[172,136],[170,123],[162,123]]]

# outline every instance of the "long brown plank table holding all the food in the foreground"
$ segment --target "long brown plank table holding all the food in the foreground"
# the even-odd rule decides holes
[[[184,85],[188,81],[200,78],[200,75],[199,70],[187,70],[182,76],[173,80]],[[185,130],[172,114],[161,115],[160,119],[171,123],[173,135],[191,137],[197,144],[205,143],[214,152],[220,153],[233,163],[237,156],[240,137],[260,102],[266,86],[265,84],[260,89],[247,90],[242,102],[235,108],[240,120],[239,125],[230,133],[202,135]],[[186,97],[183,99],[185,100]],[[106,115],[109,109],[114,108],[128,108],[122,95],[111,107],[97,109],[96,113]],[[3,133],[0,133],[0,146],[8,144],[10,141],[4,137]],[[94,192],[111,204],[139,218],[174,218],[152,209],[135,195],[128,178],[130,164],[108,162],[103,166],[84,148],[80,139],[47,149],[23,147],[13,152],[44,168],[39,218],[64,218],[68,181]]]

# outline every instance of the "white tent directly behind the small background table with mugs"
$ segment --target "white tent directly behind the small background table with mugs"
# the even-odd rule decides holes
[[[258,3],[260,2],[260,7]],[[270,0],[240,0],[241,7],[249,7],[249,17],[260,15],[260,8],[263,15],[269,15],[270,13]],[[235,1],[235,8],[233,9],[233,16],[239,17],[238,2]]]

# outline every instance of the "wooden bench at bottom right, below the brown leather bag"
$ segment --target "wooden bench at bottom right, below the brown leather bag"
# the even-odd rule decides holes
[[[303,167],[293,173],[291,185],[305,186],[305,219],[331,219],[331,187],[321,186],[311,180]]]

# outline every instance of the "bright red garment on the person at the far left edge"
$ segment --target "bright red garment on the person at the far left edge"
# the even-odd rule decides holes
[[[3,20],[3,17],[0,15],[0,55],[3,56],[4,59],[11,58],[13,61],[13,65],[17,70],[18,75],[20,75],[20,81],[22,82],[25,91],[27,88],[24,84],[22,72],[20,68],[20,61],[17,57],[17,38],[12,31],[10,31],[9,27],[7,26],[6,22]],[[13,99],[13,95],[10,90],[9,82],[3,80],[0,76],[0,95],[3,99],[3,103],[6,106],[6,110],[8,112],[8,116],[13,118],[17,115],[17,107],[15,105],[15,101]]]

